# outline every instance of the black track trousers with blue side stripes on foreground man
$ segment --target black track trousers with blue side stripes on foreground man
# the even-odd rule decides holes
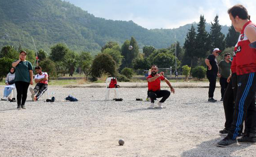
[[[240,126],[245,120],[245,133],[256,137],[256,73],[248,73],[237,76],[238,88],[235,101],[233,121],[228,137],[236,139]],[[246,117],[246,119],[245,119]]]

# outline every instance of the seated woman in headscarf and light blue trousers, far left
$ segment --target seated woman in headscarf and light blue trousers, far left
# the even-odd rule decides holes
[[[15,68],[11,67],[10,72],[7,74],[5,78],[5,88],[4,88],[4,97],[1,100],[8,100],[8,96],[11,94],[12,88],[15,88],[14,84],[15,78]]]

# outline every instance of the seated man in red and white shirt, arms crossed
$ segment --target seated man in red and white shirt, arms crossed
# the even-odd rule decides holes
[[[37,101],[48,89],[48,74],[46,72],[42,72],[40,66],[35,67],[35,71],[37,72],[37,75],[35,75],[35,82],[37,85],[34,89],[31,87],[29,88],[29,91],[32,94],[32,101]],[[35,96],[36,93],[37,95]]]

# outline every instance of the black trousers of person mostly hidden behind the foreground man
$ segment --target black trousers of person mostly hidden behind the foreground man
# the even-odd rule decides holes
[[[225,118],[226,118],[226,122],[225,122],[226,130],[230,130],[231,124],[233,122],[233,113],[234,113],[234,104],[235,104],[234,102],[236,100],[236,92],[237,92],[236,73],[232,73],[230,82],[223,96],[223,107],[224,107]]]

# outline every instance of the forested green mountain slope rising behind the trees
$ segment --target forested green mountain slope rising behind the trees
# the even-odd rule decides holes
[[[0,0],[0,47],[13,45],[50,51],[57,43],[66,43],[74,51],[100,51],[108,41],[119,44],[133,36],[139,47],[167,48],[176,40],[185,42],[191,24],[176,29],[146,29],[132,21],[97,18],[61,0]],[[199,19],[199,17],[198,17]],[[196,27],[196,24],[194,24]],[[222,32],[228,33],[227,26]],[[210,30],[210,24],[206,29]]]

